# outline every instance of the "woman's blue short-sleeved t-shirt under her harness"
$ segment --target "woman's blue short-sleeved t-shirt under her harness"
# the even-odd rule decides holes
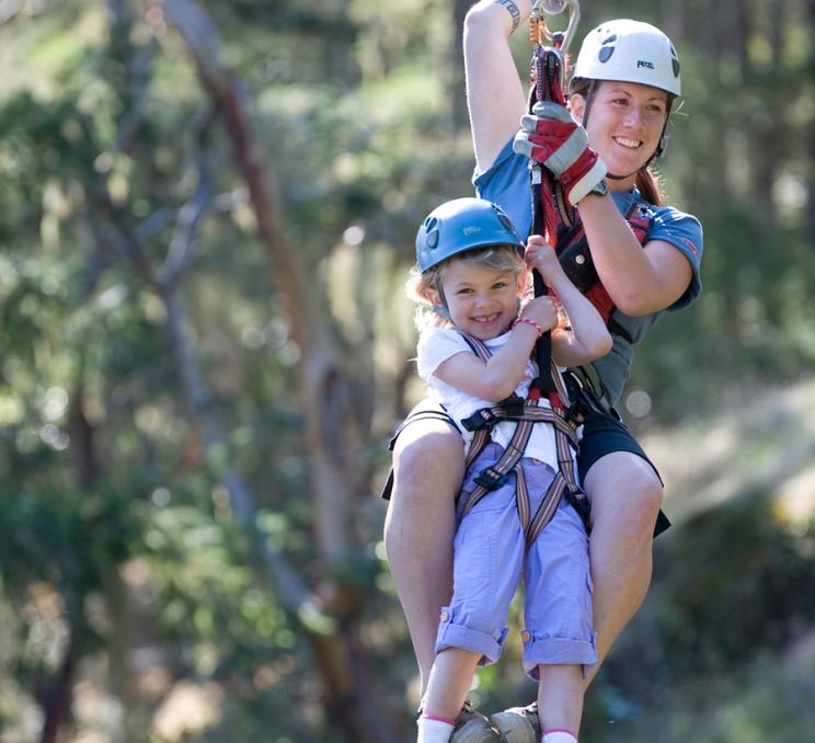
[[[529,235],[532,226],[529,159],[513,151],[512,139],[486,171],[479,173],[477,170],[473,185],[481,198],[495,202],[504,208],[520,235]],[[611,195],[621,214],[628,214],[631,207],[638,204],[641,214],[651,219],[648,240],[667,242],[688,259],[693,277],[685,294],[667,309],[673,311],[690,305],[702,289],[699,276],[702,260],[702,226],[699,220],[671,206],[648,204],[636,188],[613,192]],[[613,328],[610,329],[613,346],[606,356],[594,362],[611,404],[618,404],[628,381],[634,355],[633,345],[644,338],[663,311],[633,317],[624,315],[619,309],[613,310],[613,320],[625,330],[631,341],[615,332]]]

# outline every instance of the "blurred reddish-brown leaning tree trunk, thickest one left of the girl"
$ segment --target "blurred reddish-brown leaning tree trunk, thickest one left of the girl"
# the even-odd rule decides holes
[[[276,296],[285,302],[291,336],[301,351],[303,374],[299,396],[306,421],[306,446],[312,461],[317,546],[326,576],[321,593],[325,609],[335,620],[328,628],[305,622],[302,629],[322,674],[329,718],[354,743],[391,741],[395,739],[392,718],[386,712],[384,701],[369,673],[367,651],[355,621],[364,597],[353,586],[334,583],[329,578],[342,567],[353,547],[348,524],[353,473],[348,471],[347,431],[352,400],[337,363],[323,297],[313,288],[302,253],[282,237],[279,214],[267,187],[268,174],[254,148],[244,91],[220,58],[219,39],[210,19],[191,0],[153,4],[162,9],[167,22],[183,37],[200,83],[226,127],[236,165],[250,194]],[[174,307],[176,315],[180,313],[177,300]],[[176,336],[176,344],[180,338]],[[289,608],[297,609],[294,616],[302,618],[303,603]]]

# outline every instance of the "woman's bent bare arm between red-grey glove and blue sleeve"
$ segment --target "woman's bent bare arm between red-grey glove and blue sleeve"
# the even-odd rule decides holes
[[[674,245],[652,240],[642,247],[610,194],[577,204],[597,275],[625,315],[650,315],[673,305],[693,277]],[[571,313],[570,313],[571,315]]]

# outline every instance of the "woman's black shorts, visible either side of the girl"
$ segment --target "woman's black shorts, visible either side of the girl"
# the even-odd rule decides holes
[[[440,404],[433,402],[432,400],[423,400],[408,414],[408,418],[405,418],[397,428],[393,437],[390,439],[390,445],[388,447],[389,450],[393,450],[399,434],[402,433],[406,426],[415,421],[427,419],[449,423],[450,427],[458,432],[456,423]],[[581,482],[585,481],[588,470],[592,469],[598,459],[605,457],[607,454],[615,454],[617,451],[630,451],[631,454],[635,454],[638,457],[642,457],[648,462],[648,465],[651,465],[654,473],[662,483],[659,470],[656,469],[654,462],[648,459],[644,449],[636,443],[636,439],[631,435],[628,426],[622,421],[618,421],[611,415],[606,415],[599,412],[588,414],[583,421],[583,437],[581,438],[581,445],[577,450],[577,473],[581,478]],[[393,472],[391,471],[388,475],[388,481],[382,489],[383,499],[390,500],[392,488]],[[670,522],[668,521],[668,517],[659,511],[659,514],[656,517],[654,536],[662,534],[669,526]]]

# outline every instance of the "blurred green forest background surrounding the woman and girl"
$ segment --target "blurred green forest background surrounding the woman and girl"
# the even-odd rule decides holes
[[[0,2],[3,743],[411,740],[378,491],[469,4]],[[814,740],[815,2],[582,4],[676,42],[705,228],[625,399],[675,526],[582,740]],[[533,698],[517,649],[478,684]]]

